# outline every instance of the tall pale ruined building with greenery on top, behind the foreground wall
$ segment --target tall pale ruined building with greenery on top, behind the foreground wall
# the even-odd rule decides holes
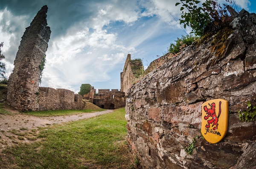
[[[131,60],[131,54],[127,55],[125,66],[120,73],[121,92],[126,92],[144,71],[142,61],[140,59]]]

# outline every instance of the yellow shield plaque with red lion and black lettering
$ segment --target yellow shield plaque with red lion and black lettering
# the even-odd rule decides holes
[[[202,104],[201,133],[209,143],[218,143],[227,134],[228,101],[214,99]]]

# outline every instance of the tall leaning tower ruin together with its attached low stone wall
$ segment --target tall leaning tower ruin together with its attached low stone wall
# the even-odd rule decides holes
[[[7,104],[21,111],[82,109],[81,95],[65,89],[40,87],[42,65],[50,39],[47,6],[43,6],[26,28],[9,76]]]

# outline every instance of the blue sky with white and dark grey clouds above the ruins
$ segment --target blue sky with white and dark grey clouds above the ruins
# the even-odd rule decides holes
[[[186,35],[179,0],[0,0],[0,42],[6,76],[12,73],[21,37],[42,6],[48,6],[51,28],[44,87],[78,92],[83,83],[99,89],[120,89],[127,54],[146,67],[170,43]],[[223,2],[224,0],[222,0]],[[236,0],[256,13],[254,0]],[[172,15],[171,15],[172,14]],[[175,17],[175,19],[173,17]],[[190,29],[185,30],[187,33]]]

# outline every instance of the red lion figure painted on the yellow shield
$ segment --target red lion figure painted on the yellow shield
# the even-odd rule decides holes
[[[218,118],[221,115],[221,101],[219,103],[218,117],[215,113],[215,103],[209,104],[209,106],[211,107],[210,109],[208,109],[207,106],[204,106],[204,111],[208,114],[208,115],[204,116],[204,119],[207,120],[209,117],[212,117],[212,119],[207,120],[208,124],[205,127],[209,128],[210,124],[212,124],[212,127],[215,125],[215,127],[213,127],[213,130],[217,130],[218,129]]]

